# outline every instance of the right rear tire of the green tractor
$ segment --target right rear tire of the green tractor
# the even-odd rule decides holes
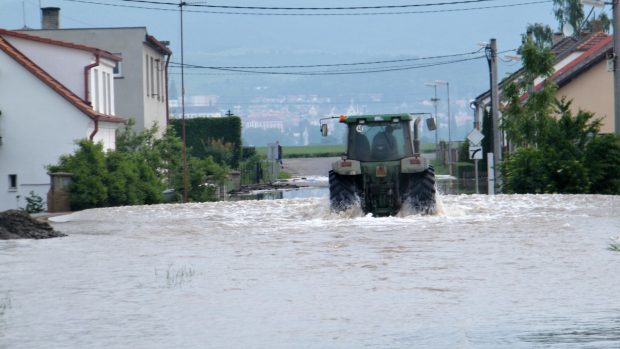
[[[421,214],[435,214],[437,212],[435,194],[435,169],[432,166],[410,176],[407,202],[413,211]]]

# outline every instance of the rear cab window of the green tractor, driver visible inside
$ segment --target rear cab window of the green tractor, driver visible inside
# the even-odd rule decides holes
[[[348,157],[359,161],[399,160],[411,156],[407,123],[349,125]]]

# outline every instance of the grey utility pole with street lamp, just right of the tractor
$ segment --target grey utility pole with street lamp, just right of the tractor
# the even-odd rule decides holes
[[[618,1],[618,0],[615,0]],[[489,73],[491,77],[491,118],[493,120],[493,167],[494,181],[493,184],[498,188],[502,187],[501,173],[499,165],[502,161],[502,134],[499,129],[499,93],[497,88],[497,42],[491,39],[486,46],[486,56],[489,62]],[[495,192],[495,191],[493,191]]]

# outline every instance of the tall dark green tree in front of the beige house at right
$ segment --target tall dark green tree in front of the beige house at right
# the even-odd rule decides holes
[[[593,113],[573,114],[571,101],[555,98],[548,48],[530,38],[522,52],[524,73],[504,91],[502,128],[517,146],[501,167],[504,190],[619,194],[620,180],[610,173],[620,173],[620,137],[599,135],[601,120]],[[531,86],[538,76],[545,82],[536,91]]]

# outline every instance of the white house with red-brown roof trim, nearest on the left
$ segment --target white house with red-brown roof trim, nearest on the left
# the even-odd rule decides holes
[[[93,47],[0,29],[0,211],[45,198],[46,166],[73,153],[78,139],[115,148],[113,67]]]

